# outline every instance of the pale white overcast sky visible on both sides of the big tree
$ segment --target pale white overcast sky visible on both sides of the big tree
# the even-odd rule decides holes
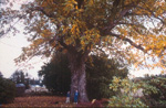
[[[14,8],[20,7],[23,1],[27,0],[15,0],[17,4]],[[22,25],[18,25],[20,33],[17,35],[6,34],[3,37],[0,37],[0,72],[3,77],[9,78],[14,71],[23,69],[23,72],[30,74],[32,77],[38,78],[38,71],[40,71],[43,63],[46,63],[48,60],[43,60],[41,57],[35,57],[29,62],[29,64],[24,66],[17,66],[14,63],[14,58],[17,58],[22,53],[22,47],[28,46],[29,43],[27,41],[27,36],[22,33]],[[129,77],[142,77],[144,74],[159,74],[160,69],[139,69],[136,71],[134,67],[129,71]]]

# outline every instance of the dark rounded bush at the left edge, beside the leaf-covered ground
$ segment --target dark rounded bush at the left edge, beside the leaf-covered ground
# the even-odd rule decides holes
[[[0,104],[8,104],[14,99],[15,85],[10,79],[0,77]]]

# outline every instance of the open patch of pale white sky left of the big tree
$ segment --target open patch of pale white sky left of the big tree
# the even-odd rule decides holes
[[[30,76],[38,78],[38,71],[41,69],[44,62],[48,62],[46,60],[34,57],[23,66],[17,66],[14,63],[14,58],[22,53],[22,47],[28,45],[27,37],[22,33],[15,36],[4,35],[4,37],[0,39],[0,72],[3,77],[9,78],[14,71],[22,69],[24,73],[30,74]]]

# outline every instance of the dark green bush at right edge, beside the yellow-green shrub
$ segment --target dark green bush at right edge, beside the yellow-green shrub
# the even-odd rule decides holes
[[[166,76],[151,76],[144,79],[144,96],[152,107],[166,107]]]

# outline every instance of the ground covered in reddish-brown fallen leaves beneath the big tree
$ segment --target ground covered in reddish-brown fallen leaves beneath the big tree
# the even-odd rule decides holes
[[[59,96],[27,96],[17,97],[12,104],[2,105],[2,108],[8,107],[103,107],[103,100],[96,100],[94,104],[84,102],[81,104],[65,104],[65,97]],[[105,101],[105,100],[104,100]]]

